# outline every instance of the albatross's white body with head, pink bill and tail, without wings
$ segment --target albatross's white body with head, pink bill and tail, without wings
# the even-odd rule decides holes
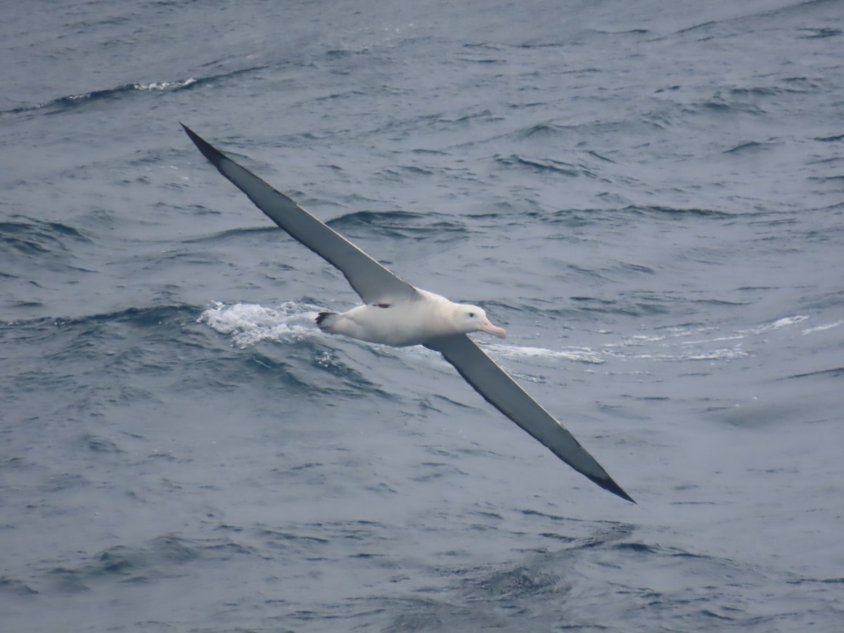
[[[417,288],[416,292],[410,299],[366,304],[342,314],[322,312],[317,325],[323,332],[393,347],[424,345],[435,338],[477,331],[506,336],[478,306],[454,303],[428,290]]]

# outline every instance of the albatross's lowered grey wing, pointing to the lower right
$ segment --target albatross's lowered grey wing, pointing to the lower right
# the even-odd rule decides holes
[[[425,347],[440,352],[492,406],[547,446],[571,468],[605,490],[633,501],[601,465],[551,414],[465,334],[437,338]],[[636,501],[633,501],[636,503]]]

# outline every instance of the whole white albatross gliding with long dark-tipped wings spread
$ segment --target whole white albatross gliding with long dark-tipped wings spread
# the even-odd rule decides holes
[[[338,268],[360,295],[362,306],[342,314],[320,312],[317,326],[322,332],[396,347],[424,345],[439,352],[487,402],[571,468],[601,488],[636,503],[553,415],[468,338],[467,334],[473,332],[506,336],[504,328],[493,325],[484,310],[453,303],[399,279],[284,193],[212,147],[184,123],[181,127],[205,158],[246,193],[257,208]]]

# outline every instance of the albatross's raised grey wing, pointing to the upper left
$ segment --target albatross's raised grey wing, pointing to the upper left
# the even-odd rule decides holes
[[[338,268],[365,303],[386,303],[419,296],[413,286],[399,279],[284,193],[276,191],[250,170],[222,154],[184,123],[181,127],[185,128],[187,136],[219,173],[234,183],[241,192],[246,193],[257,208],[273,222]]]

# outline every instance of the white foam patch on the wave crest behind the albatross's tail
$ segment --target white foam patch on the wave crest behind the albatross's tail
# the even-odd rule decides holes
[[[197,322],[208,323],[215,332],[232,334],[232,343],[246,348],[265,340],[300,340],[317,333],[313,320],[319,310],[317,306],[295,301],[285,301],[277,308],[215,302]]]

